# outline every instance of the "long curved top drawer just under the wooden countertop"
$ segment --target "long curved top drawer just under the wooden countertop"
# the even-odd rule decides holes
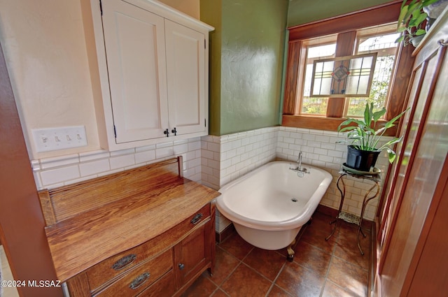
[[[95,293],[106,286],[114,277],[118,277],[118,275],[125,273],[125,271],[137,266],[139,263],[160,254],[163,250],[171,248],[176,242],[187,236],[195,226],[202,225],[202,222],[209,218],[210,204],[208,203],[195,212],[194,215],[160,236],[125,252],[111,256],[109,259],[87,269],[86,275],[89,280],[90,291]]]

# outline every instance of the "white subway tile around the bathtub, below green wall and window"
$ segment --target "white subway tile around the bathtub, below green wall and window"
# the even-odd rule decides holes
[[[269,127],[233,133],[225,136],[202,137],[202,184],[213,189],[220,189],[224,184],[258,168],[275,158],[297,161],[302,151],[302,163],[323,168],[333,176],[321,200],[321,205],[339,208],[341,196],[336,182],[339,171],[346,160],[346,140],[343,133],[300,129],[285,126]],[[388,160],[385,152],[381,153],[376,167],[386,175]],[[370,180],[346,178],[346,195],[343,210],[360,215],[363,198],[372,187]],[[379,195],[381,194],[382,181]],[[379,201],[372,199],[365,208],[364,218],[373,220]],[[223,231],[230,222],[217,211],[216,230]]]

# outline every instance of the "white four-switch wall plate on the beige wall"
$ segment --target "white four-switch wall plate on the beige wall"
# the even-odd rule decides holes
[[[87,145],[85,126],[31,129],[37,152],[65,150]]]

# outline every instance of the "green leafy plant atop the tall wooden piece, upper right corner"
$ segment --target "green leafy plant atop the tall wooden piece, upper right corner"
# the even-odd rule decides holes
[[[397,24],[397,32],[402,32],[402,35],[395,40],[395,43],[402,41],[403,46],[409,43],[414,46],[418,45],[426,34],[423,24],[428,15],[423,11],[423,8],[437,1],[440,0],[412,0],[409,3],[407,3],[407,0],[403,0]]]

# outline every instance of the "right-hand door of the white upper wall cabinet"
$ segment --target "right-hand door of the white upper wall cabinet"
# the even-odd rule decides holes
[[[165,20],[170,131],[177,135],[206,131],[205,36]],[[208,100],[208,99],[207,99]]]

